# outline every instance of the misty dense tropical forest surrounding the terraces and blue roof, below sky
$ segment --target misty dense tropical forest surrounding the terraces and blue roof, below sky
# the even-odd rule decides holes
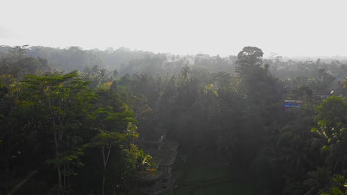
[[[1,46],[0,194],[347,194],[347,61],[263,55]]]

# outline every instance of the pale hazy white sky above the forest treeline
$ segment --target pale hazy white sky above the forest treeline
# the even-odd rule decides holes
[[[347,56],[346,0],[0,0],[0,45]]]

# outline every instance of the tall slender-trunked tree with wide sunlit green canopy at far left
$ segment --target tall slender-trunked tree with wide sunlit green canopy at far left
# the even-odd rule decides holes
[[[79,130],[87,119],[96,94],[88,83],[77,78],[76,71],[69,74],[27,76],[19,92],[19,108],[26,116],[26,126],[49,135],[53,146],[46,162],[56,167],[58,189],[67,189],[67,178],[76,165],[81,140]]]

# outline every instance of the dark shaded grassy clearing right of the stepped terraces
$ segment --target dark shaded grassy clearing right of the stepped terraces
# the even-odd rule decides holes
[[[241,171],[229,166],[191,164],[182,170],[177,186],[162,195],[253,195]]]

